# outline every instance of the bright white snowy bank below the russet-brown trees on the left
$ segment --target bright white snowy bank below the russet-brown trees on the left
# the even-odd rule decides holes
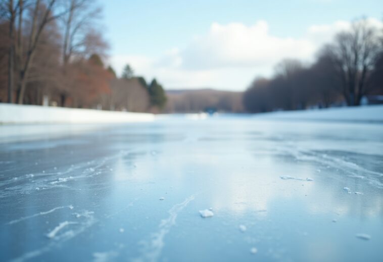
[[[124,123],[153,121],[148,113],[71,109],[0,103],[0,124]]]

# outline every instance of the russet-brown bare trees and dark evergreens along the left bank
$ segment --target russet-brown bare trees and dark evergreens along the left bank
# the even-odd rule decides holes
[[[108,42],[94,0],[1,0],[0,102],[107,110],[158,111],[154,79],[106,67]]]

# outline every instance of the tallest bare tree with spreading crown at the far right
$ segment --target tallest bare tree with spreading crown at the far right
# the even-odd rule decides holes
[[[355,21],[350,31],[336,35],[327,51],[342,80],[342,93],[347,104],[358,106],[366,94],[368,77],[379,51],[375,28],[366,19]]]

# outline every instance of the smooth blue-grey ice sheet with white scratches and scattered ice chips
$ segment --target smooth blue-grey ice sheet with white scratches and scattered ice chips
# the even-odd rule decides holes
[[[378,123],[0,126],[0,167],[1,261],[383,257]]]

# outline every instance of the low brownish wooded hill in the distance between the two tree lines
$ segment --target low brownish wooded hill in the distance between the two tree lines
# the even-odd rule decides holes
[[[243,112],[243,92],[204,89],[166,90],[168,113],[196,113],[206,111]]]

